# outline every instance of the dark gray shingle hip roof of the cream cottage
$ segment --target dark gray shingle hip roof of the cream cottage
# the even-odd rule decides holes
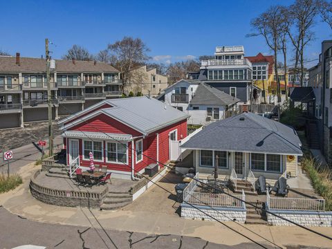
[[[244,120],[240,120],[240,118],[244,118]],[[181,147],[270,154],[302,154],[301,141],[292,127],[254,113],[241,113],[213,122]]]

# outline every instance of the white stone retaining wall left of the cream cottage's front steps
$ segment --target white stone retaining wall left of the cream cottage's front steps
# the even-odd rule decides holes
[[[218,221],[237,221],[240,223],[246,222],[246,208],[207,208],[206,206],[195,205],[197,208],[206,214],[218,219]],[[193,208],[192,206],[181,204],[181,217],[186,219],[206,219],[214,221],[210,216]]]

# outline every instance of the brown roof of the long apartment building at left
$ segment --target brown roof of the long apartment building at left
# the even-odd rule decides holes
[[[113,66],[104,62],[75,61],[65,59],[55,60],[55,71],[59,73],[119,73]],[[0,56],[0,73],[44,73],[46,72],[45,59],[20,57],[19,65],[16,57]]]

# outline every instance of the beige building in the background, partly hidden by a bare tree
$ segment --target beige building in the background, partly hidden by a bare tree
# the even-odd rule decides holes
[[[130,83],[126,86],[126,93],[134,95],[142,93],[155,97],[168,86],[168,77],[157,73],[156,68],[147,70],[147,66],[140,66],[131,71]]]

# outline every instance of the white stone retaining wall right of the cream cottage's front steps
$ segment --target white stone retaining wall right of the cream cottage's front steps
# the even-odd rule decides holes
[[[332,212],[309,212],[309,211],[280,211],[280,210],[269,210],[282,216],[286,219],[299,223],[305,226],[320,226],[320,227],[331,227],[332,225]],[[279,219],[273,214],[266,214],[268,217],[268,224],[270,225],[293,225],[288,221]]]

